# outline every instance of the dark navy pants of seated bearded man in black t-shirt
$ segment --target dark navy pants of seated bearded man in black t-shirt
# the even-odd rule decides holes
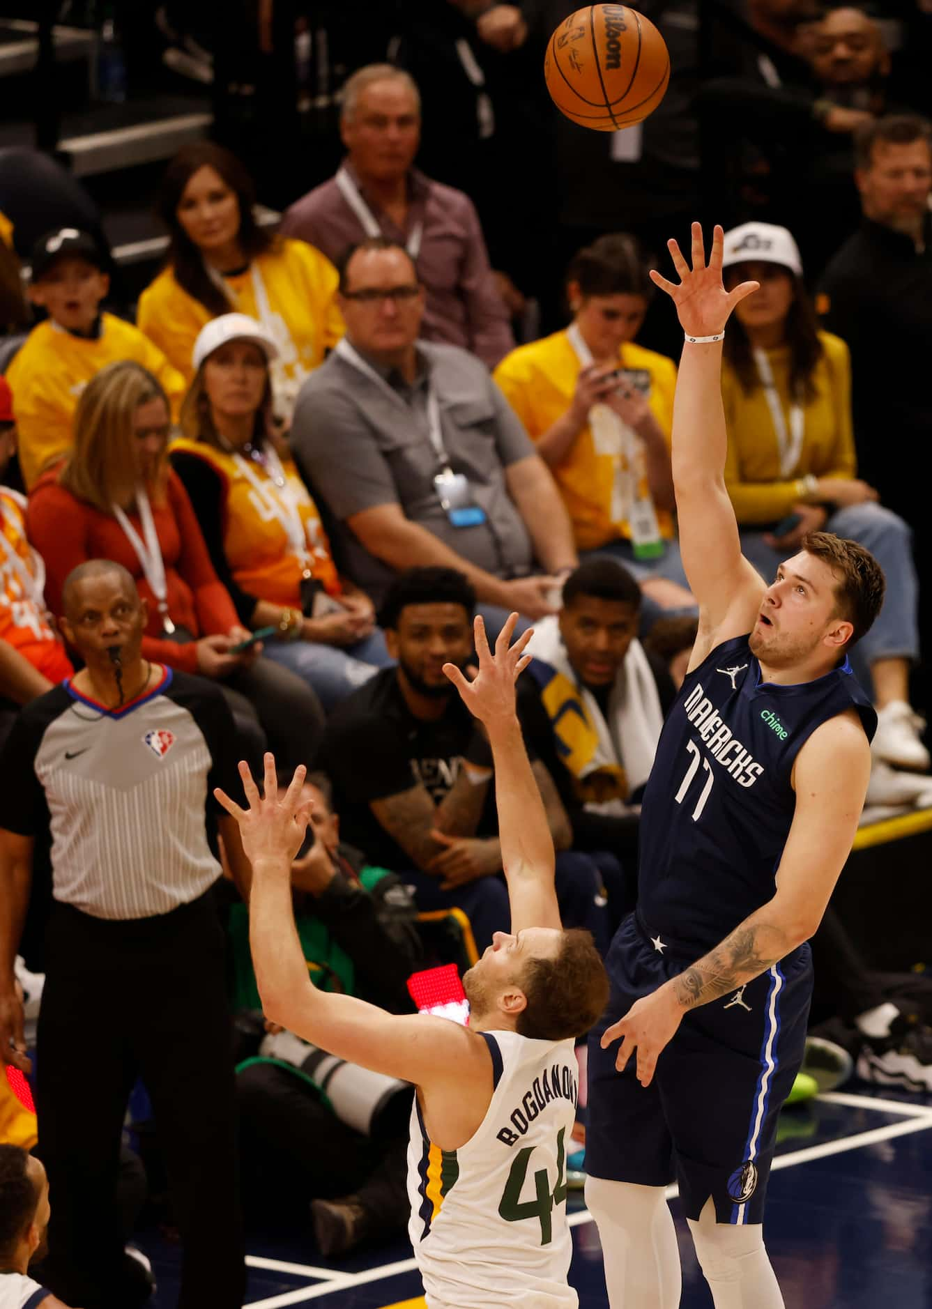
[[[461,908],[470,920],[479,954],[492,944],[493,932],[511,931],[508,888],[501,873],[479,877],[445,891],[436,877],[419,868],[402,873],[414,886],[419,910]],[[592,932],[602,954],[609,948],[609,918],[602,897],[602,876],[590,855],[564,850],[556,856],[556,899],[564,927]]]

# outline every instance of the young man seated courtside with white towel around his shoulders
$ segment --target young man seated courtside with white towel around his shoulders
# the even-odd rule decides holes
[[[615,927],[634,908],[640,793],[674,699],[662,661],[637,640],[639,618],[631,573],[588,559],[564,583],[559,618],[535,626],[518,682],[525,738],[556,783],[573,847],[596,852]]]

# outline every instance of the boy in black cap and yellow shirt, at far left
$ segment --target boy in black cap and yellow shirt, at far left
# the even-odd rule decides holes
[[[134,359],[153,373],[174,415],[185,381],[132,323],[101,313],[110,289],[107,255],[88,232],[62,228],[33,250],[29,296],[48,318],[34,327],[7,369],[17,397],[20,470],[31,491],[72,442],[77,398],[106,364]]]

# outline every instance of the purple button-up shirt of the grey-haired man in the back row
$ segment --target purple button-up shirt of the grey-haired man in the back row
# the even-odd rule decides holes
[[[492,279],[479,215],[470,198],[411,169],[411,203],[402,230],[365,194],[352,165],[347,162],[344,168],[384,236],[406,246],[418,224],[423,226],[418,255],[418,274],[427,291],[421,338],[470,350],[493,368],[514,348],[514,338],[508,310]],[[296,200],[284,216],[281,230],[310,242],[334,260],[348,245],[367,236],[335,178]]]

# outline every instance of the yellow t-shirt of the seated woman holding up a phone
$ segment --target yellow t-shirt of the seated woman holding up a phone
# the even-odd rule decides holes
[[[669,441],[677,385],[673,360],[627,343],[619,351],[618,363],[620,368],[636,369],[644,374],[649,386],[651,410]],[[539,441],[569,408],[580,372],[581,364],[567,332],[558,331],[543,340],[518,346],[501,360],[492,376],[528,428],[530,439]],[[615,458],[598,453],[592,429],[586,425],[563,461],[551,469],[580,550],[596,550],[619,537],[631,537],[628,524],[615,522],[611,516]],[[664,537],[673,535],[669,513],[658,509],[657,522]]]

